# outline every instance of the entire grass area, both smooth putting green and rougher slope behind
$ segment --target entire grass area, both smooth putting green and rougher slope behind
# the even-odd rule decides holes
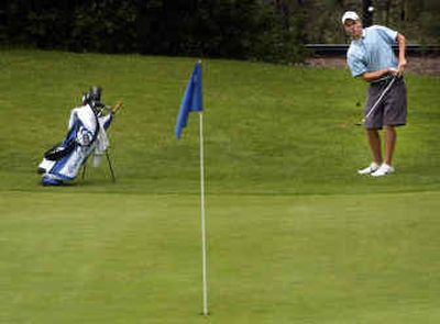
[[[397,172],[370,161],[348,71],[204,62],[209,317],[200,315],[196,59],[0,52],[0,323],[440,322],[438,77],[407,77]],[[81,91],[125,108],[103,164],[38,186]]]

